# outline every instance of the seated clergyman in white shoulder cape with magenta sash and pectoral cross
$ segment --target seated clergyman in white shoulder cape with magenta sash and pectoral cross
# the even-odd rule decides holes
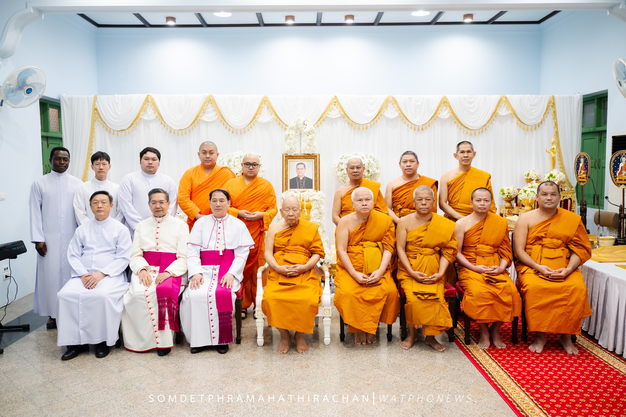
[[[228,191],[214,189],[209,199],[212,214],[193,224],[187,244],[190,282],[183,293],[180,321],[192,353],[208,346],[227,353],[233,341],[235,293],[254,240],[244,222],[227,213]]]

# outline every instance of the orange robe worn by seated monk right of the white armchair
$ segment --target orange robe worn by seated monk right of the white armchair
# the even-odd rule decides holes
[[[367,270],[374,271],[380,267],[379,259],[382,259],[382,255],[379,244],[394,254],[395,243],[396,234],[391,217],[372,210],[367,221],[349,234],[347,254],[356,271],[369,274]],[[367,261],[366,256],[369,258]],[[365,286],[354,281],[341,259],[337,259],[335,286],[334,304],[351,333],[376,333],[379,322],[396,322],[400,297],[389,266],[376,284]]]

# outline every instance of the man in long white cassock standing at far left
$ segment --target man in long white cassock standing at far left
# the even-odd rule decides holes
[[[52,171],[31,186],[31,242],[35,244],[37,274],[33,311],[49,316],[46,327],[56,328],[56,293],[71,278],[67,251],[76,230],[74,193],[81,180],[67,173],[69,151],[52,148]]]

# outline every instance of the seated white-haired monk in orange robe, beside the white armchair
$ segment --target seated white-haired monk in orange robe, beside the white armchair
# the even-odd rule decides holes
[[[391,217],[374,210],[374,193],[352,193],[354,212],[335,231],[337,274],[334,304],[354,334],[354,343],[376,343],[378,323],[393,324],[400,311],[398,288],[389,261],[394,254]]]

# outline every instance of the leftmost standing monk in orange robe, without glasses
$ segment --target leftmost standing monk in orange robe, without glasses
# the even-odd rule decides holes
[[[178,183],[178,206],[187,214],[190,231],[197,219],[211,214],[208,194],[223,188],[226,181],[235,178],[228,167],[217,164],[219,155],[215,143],[207,141],[200,144],[200,165],[187,169]]]

